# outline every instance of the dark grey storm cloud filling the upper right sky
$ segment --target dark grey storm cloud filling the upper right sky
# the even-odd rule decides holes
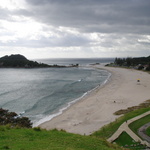
[[[150,33],[149,0],[26,0],[34,19],[83,32]]]

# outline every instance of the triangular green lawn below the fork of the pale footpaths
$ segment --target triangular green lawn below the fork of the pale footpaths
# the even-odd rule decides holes
[[[123,132],[114,142],[125,148],[145,149],[144,145],[140,145],[140,143],[135,142],[126,132]]]

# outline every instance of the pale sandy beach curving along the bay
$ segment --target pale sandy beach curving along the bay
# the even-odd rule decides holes
[[[41,128],[64,129],[71,133],[89,135],[114,121],[118,117],[113,115],[115,111],[139,105],[150,99],[150,74],[133,69],[101,65],[95,67],[111,72],[109,81],[61,115],[39,125]],[[140,79],[140,83],[137,79]]]

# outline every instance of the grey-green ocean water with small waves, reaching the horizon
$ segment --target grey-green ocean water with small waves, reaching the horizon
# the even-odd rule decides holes
[[[78,68],[1,68],[0,108],[28,117],[37,126],[62,113],[88,92],[105,84],[110,73],[89,64],[114,59],[43,59],[47,64],[79,64]]]

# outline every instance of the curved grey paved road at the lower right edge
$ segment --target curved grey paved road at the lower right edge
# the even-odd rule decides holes
[[[148,135],[146,135],[145,131],[146,129],[150,127],[150,122],[145,124],[144,126],[142,126],[141,128],[139,128],[138,130],[138,134],[144,139],[146,140],[147,142],[150,143],[150,137]]]

